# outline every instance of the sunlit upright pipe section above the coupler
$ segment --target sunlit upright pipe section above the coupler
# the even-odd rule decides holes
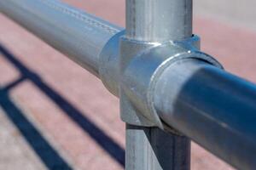
[[[192,35],[192,0],[126,0],[126,37],[146,42]]]

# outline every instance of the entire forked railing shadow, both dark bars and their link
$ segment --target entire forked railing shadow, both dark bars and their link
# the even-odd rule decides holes
[[[0,105],[3,107],[3,110],[7,112],[9,118],[15,122],[15,125],[20,129],[20,132],[25,136],[29,144],[34,146],[44,143],[45,149],[49,150],[44,153],[37,151],[38,148],[33,147],[34,150],[38,153],[38,156],[44,161],[48,166],[51,166],[51,161],[58,161],[60,164],[63,164],[61,169],[69,169],[67,163],[61,159],[60,156],[50,147],[46,140],[38,133],[35,127],[32,126],[32,123],[26,119],[21,111],[12,103],[9,99],[8,92],[11,88],[19,85],[20,82],[24,80],[31,81],[36,85],[52,102],[57,105],[61,111],[67,114],[73,122],[76,122],[79,127],[81,127],[85,133],[90,134],[90,137],[99,144],[102,149],[104,149],[110,156],[113,157],[122,167],[125,167],[125,150],[119,146],[113,139],[108,137],[99,127],[97,127],[93,122],[85,117],[81,111],[76,109],[71,105],[67,99],[64,99],[60,94],[58,94],[54,89],[50,88],[35,72],[30,71],[26,68],[26,65],[23,65],[19,59],[17,59],[13,54],[9,52],[7,48],[4,48],[0,44],[0,53],[3,54],[3,57],[9,60],[9,62],[15,66],[15,68],[20,71],[21,77],[15,82],[10,83],[8,86],[0,89]],[[26,125],[24,125],[26,124]],[[27,127],[26,127],[27,126]],[[42,141],[41,141],[42,140]],[[37,146],[38,147],[38,146]],[[40,146],[41,147],[41,146]],[[47,153],[47,154],[46,154]],[[49,167],[48,166],[48,167]],[[52,169],[52,168],[50,168]]]

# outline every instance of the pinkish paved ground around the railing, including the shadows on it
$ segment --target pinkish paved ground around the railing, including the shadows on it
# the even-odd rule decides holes
[[[124,0],[66,2],[124,26]],[[123,169],[118,99],[3,15],[0,23],[0,169]],[[241,27],[195,19],[202,49],[256,82],[256,33]],[[192,169],[232,168],[193,143]]]

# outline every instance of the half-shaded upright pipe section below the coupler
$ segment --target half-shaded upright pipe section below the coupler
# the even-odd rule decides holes
[[[188,170],[190,140],[158,127],[126,125],[127,170]]]

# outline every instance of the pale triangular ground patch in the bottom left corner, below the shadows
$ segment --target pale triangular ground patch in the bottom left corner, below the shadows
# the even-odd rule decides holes
[[[0,110],[0,169],[27,170],[45,169],[35,153],[26,144],[20,131],[9,121],[9,118]]]

